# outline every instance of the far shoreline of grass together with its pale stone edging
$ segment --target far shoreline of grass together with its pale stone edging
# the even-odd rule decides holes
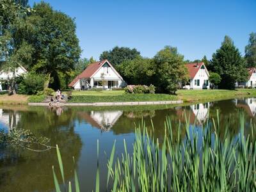
[[[111,95],[108,95],[111,93]],[[78,95],[81,94],[81,95]],[[92,94],[92,95],[88,95]],[[101,95],[95,95],[101,94]],[[118,95],[119,94],[119,95]],[[121,95],[120,95],[121,94]],[[131,96],[131,97],[130,97]],[[39,98],[40,97],[40,98]],[[26,106],[49,106],[44,102],[45,96],[16,95],[0,96],[0,105],[26,105]],[[256,97],[256,89],[238,90],[179,90],[177,95],[154,94],[154,95],[122,95],[122,92],[74,92],[74,100],[54,103],[54,106],[141,106],[159,104],[192,104],[199,102],[214,102],[218,100]],[[34,98],[34,99],[31,99]],[[84,102],[86,101],[86,102]]]

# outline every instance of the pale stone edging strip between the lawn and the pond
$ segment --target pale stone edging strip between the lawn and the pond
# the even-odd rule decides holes
[[[159,105],[159,104],[180,104],[182,100],[166,101],[139,101],[139,102],[59,102],[51,106],[138,106],[138,105]],[[29,102],[29,106],[49,106],[47,102]]]

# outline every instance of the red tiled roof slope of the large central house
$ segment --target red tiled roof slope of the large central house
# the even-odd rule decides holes
[[[76,76],[75,79],[73,79],[73,81],[68,84],[69,87],[74,86],[77,81],[79,81],[79,79],[81,78],[90,78],[92,77],[92,75],[106,62],[107,60],[103,60],[103,61],[97,61],[95,63],[91,63],[90,65],[88,65],[88,67],[86,67],[86,69],[81,72],[81,74],[79,74],[78,76]]]

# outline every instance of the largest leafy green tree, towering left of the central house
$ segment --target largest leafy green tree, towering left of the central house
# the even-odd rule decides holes
[[[76,36],[74,19],[55,11],[48,3],[33,6],[35,12],[24,19],[17,29],[19,43],[26,42],[31,49],[29,70],[45,74],[53,79],[50,86],[60,88],[61,76],[68,75],[79,60],[81,49]]]

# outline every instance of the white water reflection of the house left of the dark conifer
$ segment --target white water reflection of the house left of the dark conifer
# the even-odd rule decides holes
[[[211,105],[210,102],[205,102],[203,104],[200,103],[200,104],[194,104],[190,106],[199,123],[204,123],[205,120],[207,119],[210,105]]]

